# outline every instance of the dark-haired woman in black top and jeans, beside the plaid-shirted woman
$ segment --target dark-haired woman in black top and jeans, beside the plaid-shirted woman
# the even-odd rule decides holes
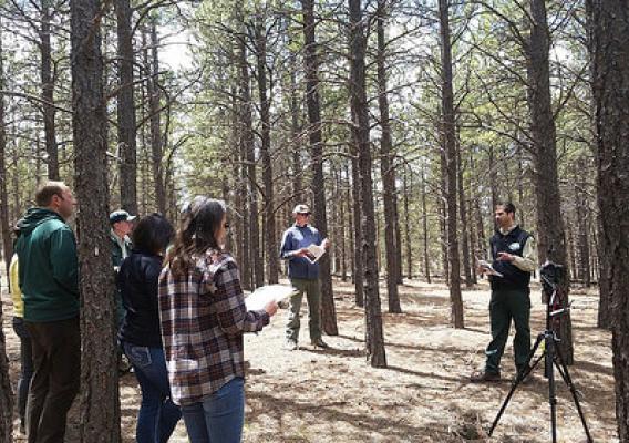
[[[157,279],[173,226],[158,214],[142,218],[133,230],[133,251],[121,265],[117,285],[126,311],[118,339],[142,389],[138,443],[167,442],[182,416],[171,400],[159,332]]]

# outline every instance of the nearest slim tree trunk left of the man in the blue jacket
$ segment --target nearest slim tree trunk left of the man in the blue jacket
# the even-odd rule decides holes
[[[260,156],[262,159],[262,182],[265,184],[265,246],[269,270],[269,284],[278,282],[279,257],[276,243],[275,199],[274,199],[274,174],[271,165],[271,101],[267,96],[267,33],[262,16],[256,19],[256,59],[258,62],[258,95],[260,97],[260,124],[261,144]]]

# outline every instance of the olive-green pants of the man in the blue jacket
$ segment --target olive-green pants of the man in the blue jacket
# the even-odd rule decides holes
[[[310,340],[319,340],[321,338],[321,289],[319,280],[293,278],[290,280],[290,284],[297,288],[298,292],[290,298],[286,338],[295,342],[299,339],[299,311],[301,310],[303,292],[306,292],[308,310],[310,311],[308,324],[310,327]]]

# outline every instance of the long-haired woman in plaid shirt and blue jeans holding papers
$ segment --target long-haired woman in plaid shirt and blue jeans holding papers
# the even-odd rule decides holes
[[[195,197],[159,276],[159,316],[171,392],[190,442],[240,442],[245,416],[243,334],[277,311],[247,311],[227,237],[225,203]]]

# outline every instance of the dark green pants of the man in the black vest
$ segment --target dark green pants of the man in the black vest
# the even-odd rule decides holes
[[[519,371],[524,368],[530,352],[530,297],[529,290],[493,290],[489,301],[489,319],[492,322],[492,341],[485,351],[487,362],[485,371],[501,372],[501,358],[509,334],[511,321],[515,324],[513,348],[515,367]]]

